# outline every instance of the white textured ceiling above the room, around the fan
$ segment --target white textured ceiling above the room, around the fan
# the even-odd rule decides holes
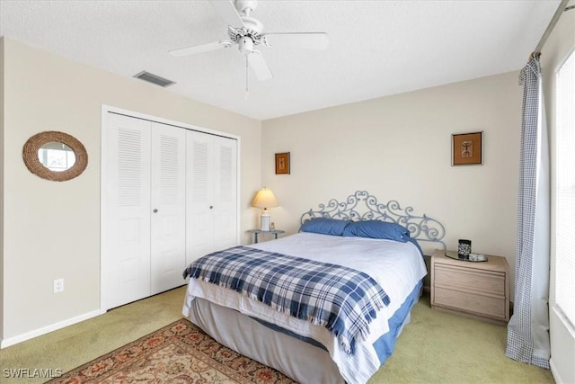
[[[260,82],[250,69],[247,97],[236,48],[168,54],[227,39],[226,22],[208,1],[0,0],[0,36],[122,76],[146,70],[175,81],[170,92],[266,120],[517,70],[558,5],[262,0],[252,17],[264,32],[325,31],[330,46],[262,47],[274,78]]]

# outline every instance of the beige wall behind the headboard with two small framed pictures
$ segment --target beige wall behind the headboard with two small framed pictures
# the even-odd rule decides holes
[[[263,121],[263,182],[276,227],[331,198],[367,190],[447,229],[446,243],[504,255],[515,271],[521,88],[518,72]],[[483,165],[451,165],[451,134],[483,131]],[[275,174],[274,153],[291,153]],[[513,283],[513,280],[511,281]],[[513,285],[511,285],[513,287]]]

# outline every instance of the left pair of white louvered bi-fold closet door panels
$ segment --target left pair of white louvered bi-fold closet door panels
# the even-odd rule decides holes
[[[116,113],[109,113],[108,124],[102,158],[105,309],[181,285],[186,247],[185,129]]]

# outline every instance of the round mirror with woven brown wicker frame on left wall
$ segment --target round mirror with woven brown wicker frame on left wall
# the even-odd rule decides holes
[[[64,132],[40,132],[22,148],[24,164],[42,179],[65,182],[82,174],[88,165],[84,145]]]

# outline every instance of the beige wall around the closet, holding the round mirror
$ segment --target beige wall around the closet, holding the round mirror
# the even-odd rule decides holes
[[[241,137],[242,242],[261,187],[261,122],[198,103],[137,79],[4,39],[4,255],[2,338],[33,333],[100,308],[100,147],[102,104]],[[22,146],[33,134],[78,138],[84,174],[57,183],[28,172]],[[65,291],[52,282],[64,278]]]

